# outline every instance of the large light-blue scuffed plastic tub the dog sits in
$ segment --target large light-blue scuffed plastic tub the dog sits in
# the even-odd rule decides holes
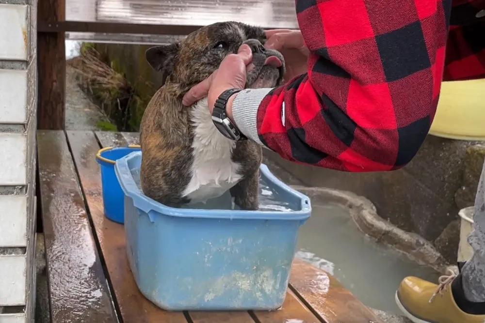
[[[171,208],[146,197],[135,178],[142,153],[116,161],[125,193],[125,234],[140,291],[165,310],[271,310],[285,299],[307,196],[261,165],[263,195],[293,211]]]

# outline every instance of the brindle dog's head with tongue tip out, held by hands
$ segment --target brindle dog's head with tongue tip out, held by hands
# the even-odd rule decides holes
[[[246,88],[274,87],[281,83],[285,62],[280,52],[264,48],[263,29],[240,22],[218,22],[189,34],[182,41],[151,47],[146,60],[162,73],[162,83],[171,82],[181,92],[209,77],[222,60],[237,53],[242,44],[253,51],[247,68]]]

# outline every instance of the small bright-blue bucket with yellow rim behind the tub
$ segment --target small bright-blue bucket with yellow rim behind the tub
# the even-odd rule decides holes
[[[140,151],[140,146],[105,147],[96,154],[97,163],[101,168],[101,186],[103,190],[104,215],[114,222],[123,224],[125,208],[123,206],[124,194],[114,172],[117,159],[134,151]]]

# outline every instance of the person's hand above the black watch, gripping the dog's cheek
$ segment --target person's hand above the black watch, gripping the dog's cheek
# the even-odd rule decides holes
[[[222,92],[229,89],[244,89],[246,83],[246,65],[253,59],[253,53],[248,45],[239,47],[237,54],[229,54],[210,77],[192,87],[182,98],[184,106],[190,106],[194,102],[207,96],[210,113],[214,108],[215,100]],[[232,120],[232,101],[229,98],[226,105],[226,114]],[[233,121],[233,120],[232,120]]]

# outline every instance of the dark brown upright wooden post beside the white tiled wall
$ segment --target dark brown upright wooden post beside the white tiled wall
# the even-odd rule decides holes
[[[65,0],[39,0],[37,21],[65,21]],[[37,128],[63,130],[65,124],[65,32],[38,32]]]

